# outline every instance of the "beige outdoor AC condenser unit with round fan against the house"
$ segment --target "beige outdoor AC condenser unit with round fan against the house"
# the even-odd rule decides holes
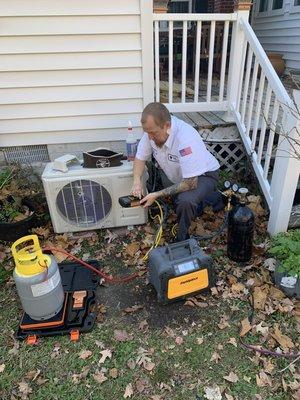
[[[147,211],[143,207],[122,208],[118,202],[119,197],[130,194],[132,164],[123,161],[121,166],[112,168],[70,165],[67,172],[54,170],[53,163],[47,164],[42,180],[54,231],[146,223]]]

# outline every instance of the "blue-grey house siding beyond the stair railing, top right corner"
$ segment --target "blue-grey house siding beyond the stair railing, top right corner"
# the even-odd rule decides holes
[[[255,1],[252,27],[266,52],[283,54],[288,70],[300,71],[300,5],[295,0],[283,0],[283,7],[259,12],[259,0]]]

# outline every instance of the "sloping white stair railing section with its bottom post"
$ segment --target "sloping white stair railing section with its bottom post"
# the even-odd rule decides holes
[[[230,107],[268,203],[268,230],[274,234],[287,229],[299,179],[295,149],[300,115],[247,19],[237,23],[242,59],[240,70],[233,73],[238,90]]]

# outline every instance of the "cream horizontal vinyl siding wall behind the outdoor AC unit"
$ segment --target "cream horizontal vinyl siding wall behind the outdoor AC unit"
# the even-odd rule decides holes
[[[0,147],[119,141],[128,120],[141,135],[150,15],[152,0],[1,1]]]

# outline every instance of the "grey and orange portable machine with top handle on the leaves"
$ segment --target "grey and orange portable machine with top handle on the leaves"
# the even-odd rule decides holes
[[[166,304],[215,284],[212,258],[195,239],[172,243],[151,250],[148,260],[149,282],[158,301]]]

